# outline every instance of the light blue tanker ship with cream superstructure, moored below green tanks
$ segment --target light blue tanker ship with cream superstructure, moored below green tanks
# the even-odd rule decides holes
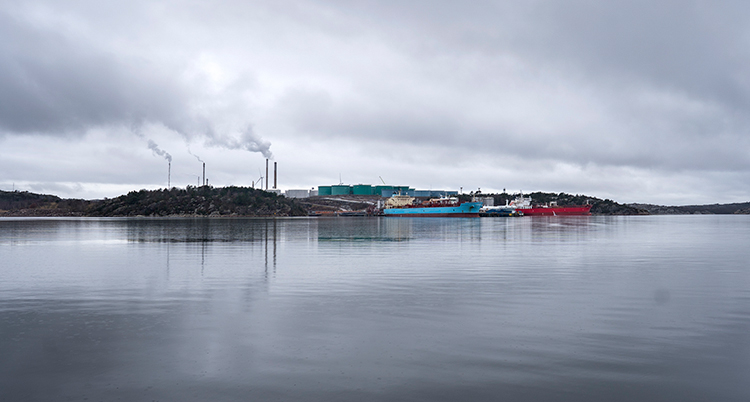
[[[385,203],[384,216],[477,218],[481,202],[460,202],[456,197],[433,198],[415,203],[415,198],[394,194]]]

